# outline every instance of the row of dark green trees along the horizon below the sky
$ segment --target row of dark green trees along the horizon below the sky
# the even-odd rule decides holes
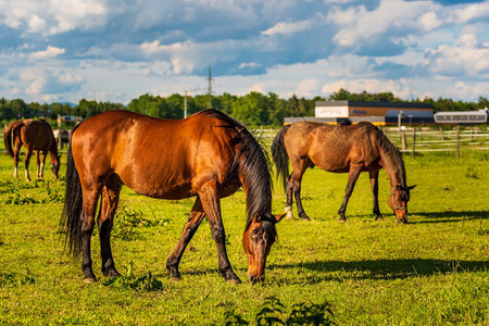
[[[78,104],[55,102],[39,104],[37,102],[26,103],[22,99],[7,100],[1,98],[0,121],[3,124],[26,117],[46,117],[55,121],[58,115],[74,115],[88,118],[95,114],[112,110],[129,110],[155,117],[181,118],[184,116],[184,108],[187,106],[189,115],[204,109],[214,108],[251,127],[281,126],[286,116],[314,116],[316,101],[341,100],[431,103],[436,112],[471,111],[489,108],[489,100],[484,97],[479,97],[477,102],[453,101],[443,98],[406,101],[396,97],[392,92],[368,93],[363,91],[354,93],[341,88],[327,98],[315,97],[313,99],[298,98],[294,95],[288,99],[283,99],[274,92],[263,95],[256,91],[246,96],[234,96],[225,92],[211,97],[205,95],[189,96],[187,99],[178,93],[166,98],[146,93],[137,99],[133,99],[127,105],[86,99],[82,99]]]

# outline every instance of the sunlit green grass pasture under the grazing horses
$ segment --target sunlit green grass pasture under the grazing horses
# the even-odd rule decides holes
[[[170,280],[166,258],[193,201],[152,200],[125,188],[112,240],[124,276],[113,283],[102,276],[93,236],[99,281],[87,285],[80,259],[63,253],[58,231],[63,179],[53,181],[46,171],[45,181],[27,185],[21,168],[14,181],[13,162],[2,154],[0,325],[291,324],[298,311],[298,323],[316,312],[338,325],[488,325],[489,151],[464,152],[460,161],[406,155],[405,163],[408,183],[417,184],[409,225],[398,225],[388,209],[385,172],[379,199],[386,220],[374,221],[367,175],[361,175],[341,224],[336,212],[347,175],[308,171],[302,196],[312,221],[277,225],[266,280],[255,286],[247,279],[241,248],[242,191],[222,201],[229,260],[243,281],[236,286],[217,274],[206,222],[184,254],[183,280]],[[276,185],[274,211],[284,206]]]

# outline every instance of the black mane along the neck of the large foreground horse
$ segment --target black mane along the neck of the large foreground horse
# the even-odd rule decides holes
[[[214,109],[200,111],[196,114],[205,114],[218,118],[226,124],[222,127],[231,128],[237,131],[234,142],[241,143],[239,153],[235,156],[235,171],[243,172],[241,179],[243,188],[247,190],[247,225],[250,227],[255,214],[271,215],[272,212],[272,165],[268,154],[258,135],[253,135],[248,127],[234,120],[229,115]],[[273,223],[262,223],[263,231],[276,237]]]

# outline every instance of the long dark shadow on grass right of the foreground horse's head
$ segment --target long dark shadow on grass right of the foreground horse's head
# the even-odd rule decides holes
[[[324,280],[392,280],[411,277],[455,274],[464,272],[487,272],[489,261],[455,261],[432,259],[394,259],[365,261],[316,261],[298,264],[273,264],[269,273],[280,269],[296,269],[308,274],[308,284]],[[286,273],[289,274],[289,273]],[[303,281],[303,277],[299,277]],[[290,281],[289,279],[287,281]]]

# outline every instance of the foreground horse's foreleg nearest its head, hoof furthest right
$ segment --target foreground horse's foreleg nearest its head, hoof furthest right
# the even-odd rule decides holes
[[[227,281],[239,284],[241,280],[233,271],[229,259],[227,258],[226,233],[221,216],[221,202],[216,188],[215,184],[206,185],[199,191],[199,197],[202,201],[202,206],[208,216],[212,236],[214,237],[217,247],[220,274],[224,276]]]

